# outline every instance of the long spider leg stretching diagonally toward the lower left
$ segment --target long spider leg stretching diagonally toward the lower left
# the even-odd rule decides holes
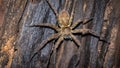
[[[45,45],[50,42],[51,40],[58,38],[60,36],[59,33],[53,34],[50,37],[48,37],[46,40],[43,40],[43,42],[34,50],[33,52],[33,56],[30,58],[30,61],[32,60],[32,58],[39,52],[39,50],[41,50],[43,47],[45,47]]]

